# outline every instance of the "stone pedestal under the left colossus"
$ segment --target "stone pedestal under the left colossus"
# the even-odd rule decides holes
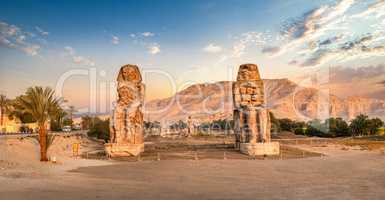
[[[137,156],[140,153],[144,152],[144,143],[143,144],[117,144],[117,143],[107,143],[104,145],[106,154],[109,157],[127,157],[127,156]]]

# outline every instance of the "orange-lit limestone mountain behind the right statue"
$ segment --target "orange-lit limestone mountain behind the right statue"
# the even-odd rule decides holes
[[[192,116],[198,121],[232,116],[232,82],[195,84],[174,96],[145,105],[145,120],[176,121]],[[265,102],[278,118],[296,120],[342,117],[358,114],[385,119],[385,101],[367,97],[339,98],[324,90],[302,87],[288,79],[264,80]]]

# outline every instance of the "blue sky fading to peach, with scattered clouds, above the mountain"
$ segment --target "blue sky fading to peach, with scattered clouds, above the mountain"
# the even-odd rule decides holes
[[[384,0],[4,0],[0,92],[49,86],[81,108],[114,99],[124,64],[151,100],[255,63],[263,78],[306,85],[326,71],[341,96],[356,84],[384,98],[384,32]]]

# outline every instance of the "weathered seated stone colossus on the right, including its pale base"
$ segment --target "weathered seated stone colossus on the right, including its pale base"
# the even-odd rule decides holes
[[[271,142],[270,114],[258,66],[241,65],[232,89],[235,147],[249,155],[279,154],[279,143]]]

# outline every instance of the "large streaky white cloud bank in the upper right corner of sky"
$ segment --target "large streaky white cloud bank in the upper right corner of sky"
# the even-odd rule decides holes
[[[384,0],[322,5],[283,23],[282,42],[265,46],[262,53],[291,57],[289,64],[302,67],[385,56],[385,28],[379,25],[385,20],[384,10]]]

